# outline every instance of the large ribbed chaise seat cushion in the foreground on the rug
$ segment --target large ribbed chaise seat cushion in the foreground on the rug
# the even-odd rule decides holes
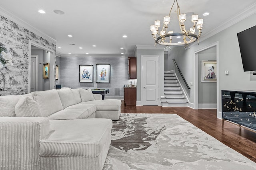
[[[110,142],[111,129],[110,119],[50,120],[53,133],[40,141],[40,156],[95,158]]]

